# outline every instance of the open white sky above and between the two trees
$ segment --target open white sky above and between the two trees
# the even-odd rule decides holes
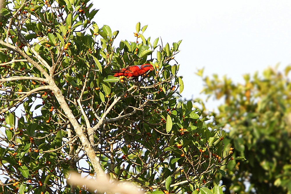
[[[186,3],[187,2],[187,3]],[[291,62],[291,1],[94,1],[100,9],[94,21],[119,30],[119,40],[134,41],[135,25],[148,24],[145,38],[163,43],[183,40],[175,57],[183,76],[183,97],[202,97],[204,75],[227,74],[243,82],[242,74],[262,72]],[[204,97],[205,98],[205,97]],[[215,107],[213,102],[208,108]]]

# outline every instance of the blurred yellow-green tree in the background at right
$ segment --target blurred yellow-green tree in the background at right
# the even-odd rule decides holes
[[[246,74],[244,84],[226,76],[204,78],[205,94],[225,97],[214,123],[229,130],[225,143],[234,148],[233,157],[247,159],[229,162],[226,177],[217,176],[226,185],[226,193],[291,192],[290,69],[281,73],[268,68],[263,77]]]

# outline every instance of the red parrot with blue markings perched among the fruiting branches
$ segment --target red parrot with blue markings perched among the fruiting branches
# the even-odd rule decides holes
[[[114,77],[119,77],[119,76],[126,76],[127,78],[129,77],[138,77],[143,74],[145,74],[148,70],[154,70],[151,64],[143,64],[143,65],[133,65],[129,66],[126,68],[122,68],[117,71],[112,71],[115,73],[113,76]]]

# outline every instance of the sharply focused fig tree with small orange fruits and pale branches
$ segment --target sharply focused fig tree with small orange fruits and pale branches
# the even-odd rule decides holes
[[[212,192],[215,172],[233,158],[223,151],[224,132],[208,129],[207,113],[177,103],[181,41],[158,45],[137,23],[136,39],[115,46],[118,31],[99,28],[91,7],[31,0],[1,10],[4,193],[86,193],[66,184],[70,170],[150,193]],[[139,79],[112,76],[144,63],[155,70]]]

